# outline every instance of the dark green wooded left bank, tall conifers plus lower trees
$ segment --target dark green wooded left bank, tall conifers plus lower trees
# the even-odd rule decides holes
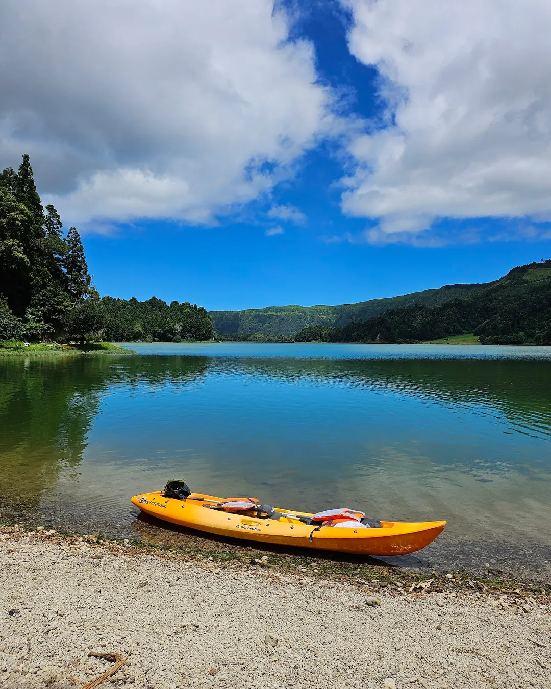
[[[207,311],[155,297],[100,298],[79,232],[42,206],[29,156],[0,172],[0,341],[211,340]]]

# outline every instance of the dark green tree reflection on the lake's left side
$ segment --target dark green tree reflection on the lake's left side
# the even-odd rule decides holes
[[[5,358],[0,362],[0,495],[4,511],[37,506],[76,467],[88,445],[102,395],[191,382],[206,360],[132,358]],[[65,486],[65,489],[69,486]]]

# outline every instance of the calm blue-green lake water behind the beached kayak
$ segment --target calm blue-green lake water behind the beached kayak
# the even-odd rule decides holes
[[[422,564],[549,573],[551,347],[132,347],[0,359],[4,515],[136,537],[129,496],[178,477],[290,508],[445,518]]]

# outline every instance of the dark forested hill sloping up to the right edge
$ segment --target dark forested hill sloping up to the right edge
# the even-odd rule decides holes
[[[342,328],[306,327],[299,342],[426,342],[474,333],[481,344],[551,345],[551,260],[513,268],[500,280],[438,307],[390,309]]]

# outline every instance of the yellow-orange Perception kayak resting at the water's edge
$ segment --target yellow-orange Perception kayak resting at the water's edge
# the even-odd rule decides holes
[[[167,497],[163,491],[141,493],[132,497],[134,505],[143,513],[178,526],[196,528],[198,531],[219,536],[257,541],[265,545],[298,546],[356,555],[415,553],[433,542],[446,526],[446,522],[441,520],[377,522],[377,526],[380,524],[378,528],[366,528],[359,522],[346,522],[346,525],[352,526],[335,528],[325,525],[329,522],[311,522],[315,517],[311,513],[287,511],[282,508],[262,508],[267,510],[264,515],[260,513],[260,509],[258,513],[254,510],[247,513],[227,511],[219,507],[227,500],[204,493],[190,493],[182,500]]]

